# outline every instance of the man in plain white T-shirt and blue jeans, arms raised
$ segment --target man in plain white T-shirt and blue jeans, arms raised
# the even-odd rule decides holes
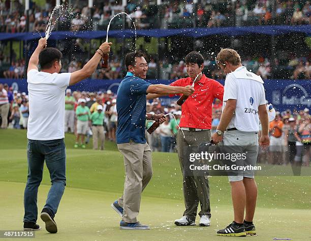
[[[38,230],[37,196],[44,161],[50,172],[51,189],[41,212],[46,230],[57,232],[54,216],[66,186],[65,90],[69,85],[88,78],[96,70],[103,54],[110,52],[111,43],[103,43],[89,62],[79,71],[61,73],[61,52],[46,48],[46,38],[29,59],[27,82],[29,119],[27,129],[28,177],[24,193],[24,230]],[[38,71],[38,64],[41,71]]]

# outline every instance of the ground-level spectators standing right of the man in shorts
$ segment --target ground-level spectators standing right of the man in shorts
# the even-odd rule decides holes
[[[260,133],[259,133],[260,135]],[[269,123],[269,153],[261,152],[259,162],[272,165],[291,164],[294,175],[309,166],[311,157],[311,115],[309,109],[290,109],[280,113]],[[297,168],[298,167],[298,168]]]

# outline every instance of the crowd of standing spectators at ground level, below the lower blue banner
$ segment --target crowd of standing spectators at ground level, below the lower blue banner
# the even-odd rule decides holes
[[[7,99],[9,111],[5,113],[1,110],[1,127],[26,129],[29,116],[26,93],[12,91],[12,87],[7,84],[4,86],[0,84],[0,101],[4,101],[4,99]],[[65,103],[65,132],[76,134],[75,148],[85,148],[90,136],[93,137],[94,149],[104,149],[105,139],[115,142],[117,110],[114,93],[110,90],[105,93],[88,93],[72,92],[71,89],[67,89]],[[176,134],[181,117],[181,106],[176,104],[176,99],[172,99],[170,102],[154,99],[152,102],[147,101],[146,108],[148,113],[170,113],[167,115],[167,121],[151,135],[146,132],[150,148],[156,152],[176,152]],[[102,114],[102,118],[99,122],[100,114]],[[219,125],[221,115],[222,102],[215,99],[212,105],[212,133]],[[309,166],[311,155],[310,120],[311,115],[307,108],[276,111],[275,119],[269,124],[270,151],[268,153],[260,152],[258,162],[274,165]],[[81,129],[81,122],[85,124],[86,129],[84,131],[79,130]],[[152,124],[152,120],[146,120],[146,128]],[[81,137],[81,142],[79,142],[79,137]],[[98,140],[100,140],[99,146]],[[299,171],[299,169],[297,170]]]

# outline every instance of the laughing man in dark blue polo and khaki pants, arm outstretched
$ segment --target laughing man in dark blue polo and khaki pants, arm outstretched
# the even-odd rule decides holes
[[[122,197],[111,204],[122,217],[120,229],[149,229],[137,222],[141,193],[152,176],[151,149],[146,142],[146,119],[165,122],[164,114],[146,113],[146,95],[184,94],[194,92],[191,85],[185,87],[150,84],[144,79],[148,64],[144,53],[131,52],[125,57],[128,73],[117,92],[118,126],[116,139],[118,150],[124,157],[126,178]]]

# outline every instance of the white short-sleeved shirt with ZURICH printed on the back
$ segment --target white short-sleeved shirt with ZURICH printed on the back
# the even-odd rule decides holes
[[[223,110],[228,100],[236,100],[235,114],[227,127],[239,131],[259,131],[258,107],[265,105],[265,89],[260,76],[249,72],[244,66],[227,74]]]

